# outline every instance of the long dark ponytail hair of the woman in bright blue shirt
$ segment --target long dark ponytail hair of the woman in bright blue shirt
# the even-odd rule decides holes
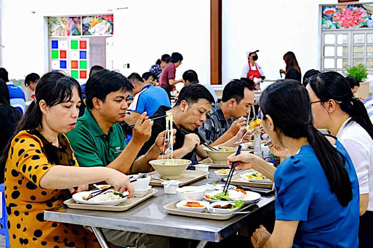
[[[266,115],[272,118],[276,132],[281,131],[295,139],[307,138],[325,172],[330,190],[342,206],[347,206],[352,199],[352,187],[344,166],[346,158],[314,128],[310,98],[304,86],[292,79],[277,80],[263,91],[260,108],[263,120]]]

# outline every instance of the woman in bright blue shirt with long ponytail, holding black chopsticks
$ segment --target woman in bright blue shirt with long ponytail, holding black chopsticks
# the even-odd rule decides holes
[[[276,222],[270,234],[260,226],[254,247],[358,247],[359,189],[344,147],[313,127],[304,86],[278,80],[260,98],[262,125],[276,155],[290,157],[277,167],[250,153],[228,157],[236,169],[254,168],[275,182]]]

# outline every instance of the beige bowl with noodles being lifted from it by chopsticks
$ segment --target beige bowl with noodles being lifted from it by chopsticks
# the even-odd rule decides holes
[[[163,159],[163,162],[167,163],[167,159]],[[162,160],[152,160],[149,161],[149,164],[153,166],[154,170],[156,170],[160,177],[169,180],[169,179],[178,179],[180,175],[188,168],[188,166],[192,163],[190,160],[185,159],[169,159],[168,162],[172,164],[161,164]]]

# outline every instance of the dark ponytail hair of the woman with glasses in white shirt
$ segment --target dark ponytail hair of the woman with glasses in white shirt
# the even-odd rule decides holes
[[[322,103],[333,99],[341,110],[350,115],[351,120],[363,127],[373,139],[373,124],[364,104],[351,91],[347,80],[339,73],[328,71],[310,77],[308,84]]]

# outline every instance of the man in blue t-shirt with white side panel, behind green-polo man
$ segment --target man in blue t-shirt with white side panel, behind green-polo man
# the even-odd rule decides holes
[[[132,96],[134,100],[129,106],[131,115],[126,115],[124,121],[128,124],[134,124],[138,117],[144,112],[147,116],[152,116],[160,106],[171,107],[169,98],[163,88],[144,83],[138,73],[132,73],[128,80],[134,86]]]

